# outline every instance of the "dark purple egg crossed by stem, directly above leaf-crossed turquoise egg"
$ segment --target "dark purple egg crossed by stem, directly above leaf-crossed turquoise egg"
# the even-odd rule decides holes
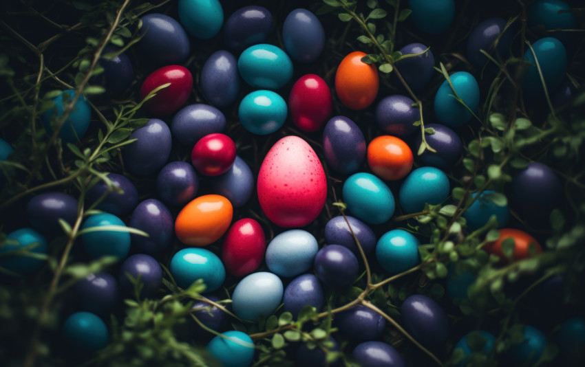
[[[114,185],[122,190],[122,193],[116,191],[108,192],[103,201],[101,201],[96,209],[103,210],[116,216],[125,216],[136,207],[138,203],[138,191],[134,183],[123,175],[117,173],[108,173],[107,178],[110,179]],[[95,203],[102,197],[108,188],[104,181],[98,181],[92,188],[87,191],[85,199],[89,205]]]

